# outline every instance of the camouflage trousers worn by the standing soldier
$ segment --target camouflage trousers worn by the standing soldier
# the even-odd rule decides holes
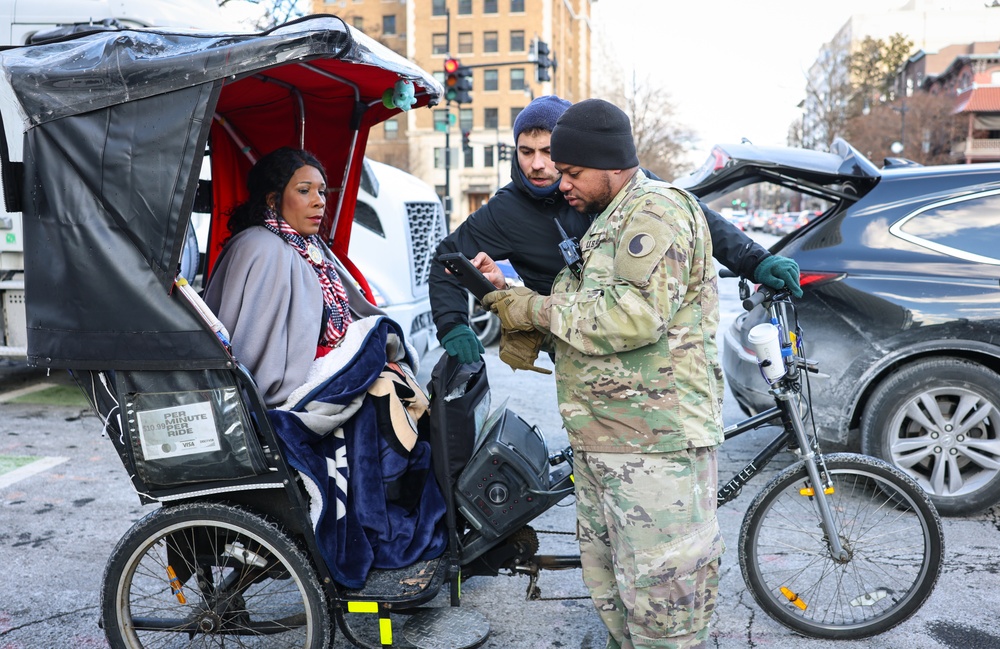
[[[608,647],[702,647],[724,550],[715,447],[676,453],[578,452],[583,579]]]

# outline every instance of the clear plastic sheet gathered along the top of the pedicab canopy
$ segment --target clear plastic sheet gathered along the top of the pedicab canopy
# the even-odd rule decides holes
[[[332,16],[315,16],[262,34],[122,30],[0,55],[3,76],[25,129],[289,61],[342,59],[417,81],[436,98],[440,84],[405,58]]]

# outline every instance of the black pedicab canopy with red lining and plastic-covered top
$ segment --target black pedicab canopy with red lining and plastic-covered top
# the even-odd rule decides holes
[[[261,34],[100,32],[8,50],[0,66],[25,129],[22,192],[5,198],[24,212],[28,360],[55,368],[227,366],[174,290],[206,149],[209,264],[250,166],[286,145],[326,167],[325,233],[346,260],[369,129],[399,113],[383,94],[402,80],[414,106],[441,94],[333,16]]]

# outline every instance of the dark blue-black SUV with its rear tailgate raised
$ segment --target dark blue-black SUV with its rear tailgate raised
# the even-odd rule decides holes
[[[904,470],[943,514],[1000,501],[1000,165],[879,169],[843,140],[831,153],[720,145],[675,182],[704,200],[767,182],[828,202],[771,248],[801,269],[820,436]],[[747,343],[763,318],[724,332],[748,413],[773,405]]]

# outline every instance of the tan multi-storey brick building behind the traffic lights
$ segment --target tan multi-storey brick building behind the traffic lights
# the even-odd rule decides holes
[[[372,131],[367,150],[371,158],[422,178],[439,195],[450,194],[457,223],[510,180],[510,162],[498,159],[499,144],[513,144],[514,119],[533,97],[590,96],[595,1],[312,0],[312,12],[340,16],[442,84],[449,56],[472,69],[470,103],[403,113]],[[549,45],[556,62],[551,81],[539,82],[529,60],[536,39]],[[469,149],[462,147],[463,132]]]

